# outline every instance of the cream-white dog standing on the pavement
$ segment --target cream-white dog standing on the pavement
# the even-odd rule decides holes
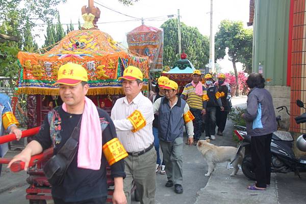
[[[210,174],[214,171],[216,164],[230,161],[232,162],[237,153],[237,148],[234,147],[218,147],[214,144],[209,143],[210,140],[199,140],[197,143],[197,149],[202,153],[208,164],[208,172],[205,176],[209,177]],[[243,155],[240,153],[240,156],[233,162],[234,170],[231,173],[231,177],[237,174],[239,170],[238,164],[241,164]]]

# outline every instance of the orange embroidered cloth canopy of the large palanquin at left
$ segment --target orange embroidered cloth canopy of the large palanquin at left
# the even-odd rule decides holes
[[[58,69],[68,62],[87,69],[88,95],[123,94],[117,80],[125,67],[140,68],[144,75],[144,90],[148,89],[148,57],[132,54],[117,45],[112,37],[99,30],[72,31],[50,51],[19,52],[20,77],[18,94],[58,95]]]

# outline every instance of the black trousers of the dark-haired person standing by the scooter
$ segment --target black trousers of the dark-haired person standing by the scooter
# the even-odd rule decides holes
[[[271,178],[271,138],[272,134],[251,137],[251,157],[259,188],[270,185]]]

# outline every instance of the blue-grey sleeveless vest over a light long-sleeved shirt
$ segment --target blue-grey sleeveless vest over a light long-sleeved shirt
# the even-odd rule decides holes
[[[183,137],[185,105],[186,101],[178,97],[176,105],[170,109],[168,99],[161,98],[158,112],[158,136],[161,140],[171,142],[177,137]]]

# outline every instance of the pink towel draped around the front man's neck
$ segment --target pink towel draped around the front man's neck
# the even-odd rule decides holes
[[[67,111],[67,105],[62,108]],[[81,121],[78,167],[100,169],[102,156],[102,131],[98,110],[95,104],[85,97],[85,107]]]

